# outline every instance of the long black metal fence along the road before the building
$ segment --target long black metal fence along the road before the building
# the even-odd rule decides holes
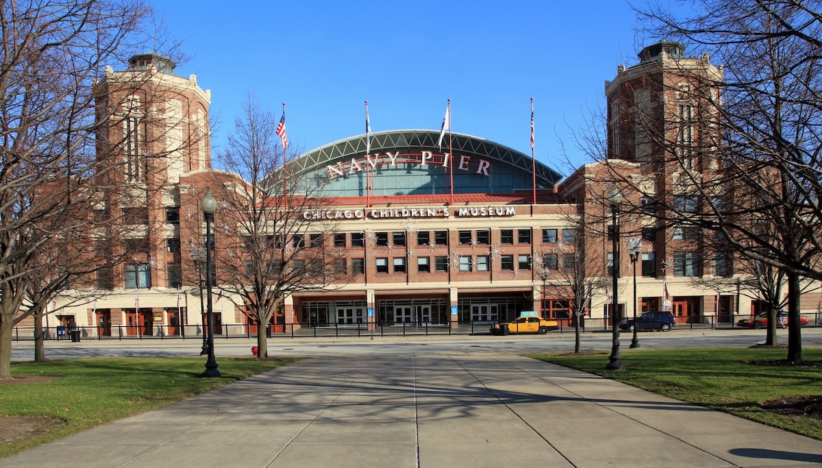
[[[803,314],[807,319],[807,326],[822,325],[822,313]],[[677,317],[677,326],[674,330],[714,330],[748,328],[737,325],[743,318],[750,315],[732,317]],[[569,320],[557,321],[559,330],[552,333],[569,333],[574,331],[574,323]],[[804,321],[803,321],[804,322]],[[302,323],[286,323],[271,325],[266,336],[271,339],[296,337],[341,337],[341,336],[435,336],[435,335],[485,335],[495,322],[408,322],[408,323],[376,323],[371,328],[366,323],[329,323],[321,326],[310,326]],[[753,326],[754,324],[751,324]],[[256,337],[255,327],[246,325],[221,325],[215,327],[215,340],[230,338]],[[580,329],[585,332],[603,332],[611,330],[611,322],[607,318],[586,318],[580,322]],[[132,340],[202,340],[203,327],[197,325],[167,326],[154,325],[151,327],[77,327],[79,339],[98,341],[132,341]],[[44,328],[44,339],[48,341],[71,341],[72,338],[65,327]],[[35,327],[15,327],[12,339],[14,341],[33,341]]]

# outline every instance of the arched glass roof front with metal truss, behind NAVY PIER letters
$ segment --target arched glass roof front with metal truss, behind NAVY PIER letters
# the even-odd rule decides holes
[[[442,149],[436,146],[440,132],[395,130],[371,135],[366,157],[365,135],[321,146],[289,162],[289,174],[324,178],[326,196],[446,193],[453,178],[455,193],[511,193],[533,187],[529,155],[507,146],[451,133]],[[446,159],[445,154],[453,151]],[[449,168],[448,165],[453,167]],[[289,175],[290,177],[290,175]],[[552,188],[561,174],[536,163],[537,188]]]

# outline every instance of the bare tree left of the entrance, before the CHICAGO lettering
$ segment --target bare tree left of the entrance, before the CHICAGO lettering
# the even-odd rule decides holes
[[[324,183],[289,173],[289,154],[279,143],[273,113],[248,96],[235,122],[211,190],[218,211],[219,289],[256,324],[260,358],[268,357],[266,330],[289,294],[330,290],[348,280],[345,258],[330,248],[335,224],[307,213],[321,210]]]

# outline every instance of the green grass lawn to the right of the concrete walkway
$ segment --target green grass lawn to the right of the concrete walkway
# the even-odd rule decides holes
[[[822,440],[822,420],[777,415],[760,406],[775,398],[822,395],[822,365],[774,364],[786,354],[765,348],[621,350],[624,371],[605,370],[608,354],[530,357]],[[822,349],[805,348],[802,358],[822,363]]]

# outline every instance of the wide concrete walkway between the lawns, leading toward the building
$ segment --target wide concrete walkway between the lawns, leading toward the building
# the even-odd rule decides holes
[[[822,441],[501,354],[305,359],[0,466],[813,466]]]

